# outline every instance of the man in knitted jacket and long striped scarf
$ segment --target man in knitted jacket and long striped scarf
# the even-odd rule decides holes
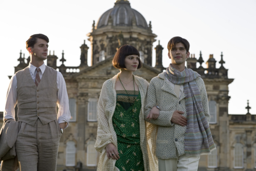
[[[172,60],[166,72],[148,87],[144,118],[157,125],[156,156],[159,171],[196,171],[200,155],[215,149],[209,130],[209,108],[204,81],[185,67],[189,42],[173,37],[167,45]],[[153,149],[154,151],[154,149]]]

